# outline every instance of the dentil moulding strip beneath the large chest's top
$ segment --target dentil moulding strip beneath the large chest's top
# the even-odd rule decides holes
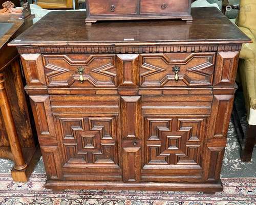
[[[187,52],[228,52],[240,51],[242,44],[205,44],[205,45],[139,45],[139,46],[19,46],[20,54],[35,53],[187,53]]]

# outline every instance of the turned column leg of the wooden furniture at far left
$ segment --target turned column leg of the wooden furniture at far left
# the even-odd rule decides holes
[[[22,147],[20,146],[17,131],[14,125],[13,116],[9,106],[9,100],[5,89],[4,73],[0,73],[0,107],[3,115],[4,123],[6,126],[6,132],[8,135],[10,148],[13,155],[14,169],[22,170],[28,165],[24,160]]]

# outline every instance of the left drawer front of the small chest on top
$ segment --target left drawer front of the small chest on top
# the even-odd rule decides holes
[[[136,14],[137,0],[89,0],[90,15]]]

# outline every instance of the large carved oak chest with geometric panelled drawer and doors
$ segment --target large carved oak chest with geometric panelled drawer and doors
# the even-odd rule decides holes
[[[47,188],[223,189],[239,51],[250,39],[215,8],[191,12],[191,24],[90,27],[83,12],[51,12],[9,44],[22,57]]]

